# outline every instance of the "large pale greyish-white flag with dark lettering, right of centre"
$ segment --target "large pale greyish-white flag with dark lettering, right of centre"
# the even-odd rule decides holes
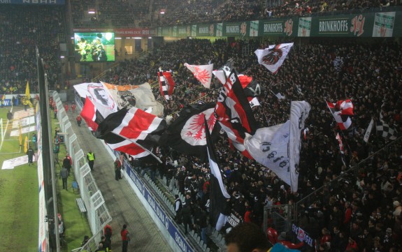
[[[306,101],[292,101],[289,121],[259,128],[244,140],[252,158],[275,172],[293,192],[298,188],[301,131],[309,112],[310,104]]]

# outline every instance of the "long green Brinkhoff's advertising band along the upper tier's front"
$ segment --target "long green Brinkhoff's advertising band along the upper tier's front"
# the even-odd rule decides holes
[[[158,27],[157,36],[402,37],[402,12],[252,20]]]

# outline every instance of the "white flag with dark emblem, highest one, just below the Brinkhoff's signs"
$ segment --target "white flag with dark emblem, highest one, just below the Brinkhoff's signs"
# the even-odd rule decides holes
[[[255,50],[258,58],[258,63],[265,66],[272,73],[276,73],[283,61],[285,61],[287,54],[292,48],[293,43],[269,45],[264,50]]]

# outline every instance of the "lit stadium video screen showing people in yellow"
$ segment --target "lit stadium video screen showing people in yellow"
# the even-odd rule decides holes
[[[115,61],[115,34],[89,32],[74,34],[76,62]]]

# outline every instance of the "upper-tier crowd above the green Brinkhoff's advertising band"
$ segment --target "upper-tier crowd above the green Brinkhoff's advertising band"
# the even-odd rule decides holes
[[[271,3],[271,4],[270,4]],[[290,16],[309,17],[326,13],[363,13],[401,6],[399,0],[189,0],[189,1],[71,1],[75,28],[153,27],[208,22],[244,21]],[[134,8],[134,6],[136,6]],[[94,9],[96,15],[88,15]],[[161,13],[163,12],[163,13]],[[96,18],[94,18],[96,17]],[[124,20],[124,21],[122,21]]]

